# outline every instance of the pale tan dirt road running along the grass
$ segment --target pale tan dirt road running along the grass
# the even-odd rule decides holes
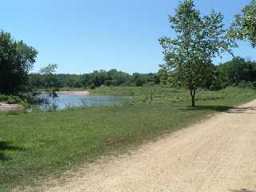
[[[256,101],[121,158],[81,168],[43,191],[256,191]]]

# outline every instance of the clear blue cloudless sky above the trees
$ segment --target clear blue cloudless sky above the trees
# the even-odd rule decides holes
[[[167,15],[178,0],[8,0],[1,2],[0,28],[38,49],[34,71],[48,63],[58,73],[83,74],[116,68],[129,73],[158,71],[158,38],[170,34]],[[195,0],[202,14],[221,11],[226,26],[250,0]],[[249,43],[235,55],[256,59]],[[214,59],[223,62],[230,56]]]

